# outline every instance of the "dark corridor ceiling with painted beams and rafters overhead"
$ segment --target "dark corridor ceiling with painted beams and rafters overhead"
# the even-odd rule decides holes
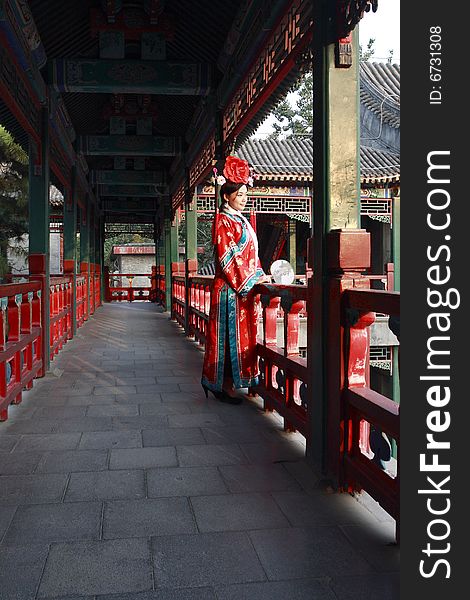
[[[167,214],[174,210],[175,192],[181,202],[184,173],[203,152],[198,144],[214,130],[217,110],[233,101],[281,20],[289,14],[294,30],[311,29],[311,3],[304,0],[6,2],[18,13],[26,7],[20,18],[34,37],[27,7],[31,11],[37,29],[31,54],[49,109],[68,124],[107,221],[153,222],[163,206]],[[276,35],[284,48],[283,31]],[[308,43],[232,134],[232,150],[308,68]],[[269,63],[263,61],[261,69]],[[0,123],[27,147],[27,134],[1,100]],[[57,169],[51,180],[63,188]]]

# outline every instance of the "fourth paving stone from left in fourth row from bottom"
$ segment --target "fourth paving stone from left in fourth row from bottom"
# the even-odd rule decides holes
[[[231,492],[299,491],[300,485],[284,465],[229,465],[219,467]]]

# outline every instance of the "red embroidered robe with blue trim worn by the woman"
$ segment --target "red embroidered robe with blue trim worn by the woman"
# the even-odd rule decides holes
[[[253,239],[256,234],[250,230],[239,215],[220,212],[201,380],[211,390],[219,391],[223,386],[226,343],[234,387],[258,383],[258,307],[255,296],[249,292],[264,272],[258,259],[257,240]]]

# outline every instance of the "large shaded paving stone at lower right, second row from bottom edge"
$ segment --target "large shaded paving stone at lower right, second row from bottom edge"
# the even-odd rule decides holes
[[[250,532],[250,537],[273,581],[372,572],[338,527],[260,530]]]

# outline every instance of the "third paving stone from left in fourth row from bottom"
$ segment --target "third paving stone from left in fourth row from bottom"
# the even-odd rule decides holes
[[[227,492],[215,467],[151,469],[147,472],[147,488],[150,498]]]

